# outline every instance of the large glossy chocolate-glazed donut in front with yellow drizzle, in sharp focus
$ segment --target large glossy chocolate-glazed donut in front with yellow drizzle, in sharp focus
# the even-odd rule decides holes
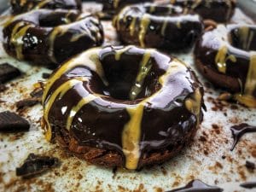
[[[64,63],[44,89],[44,129],[80,158],[139,169],[195,135],[203,90],[181,61],[135,46],[94,48]]]

